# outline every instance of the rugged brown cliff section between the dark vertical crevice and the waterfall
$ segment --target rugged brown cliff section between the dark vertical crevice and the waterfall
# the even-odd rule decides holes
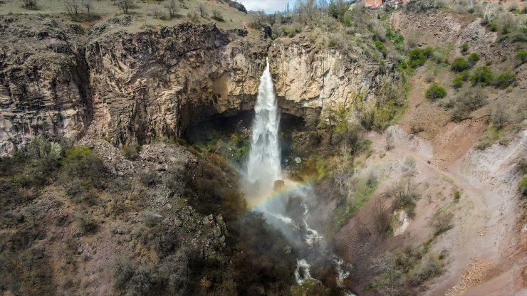
[[[183,23],[91,41],[98,134],[115,144],[179,136],[190,122],[252,107],[265,46],[245,35]]]

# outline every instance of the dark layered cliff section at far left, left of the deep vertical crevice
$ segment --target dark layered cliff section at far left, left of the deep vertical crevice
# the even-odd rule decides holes
[[[72,40],[78,28],[43,18],[0,22],[0,153],[35,134],[77,138],[90,123],[88,65]]]

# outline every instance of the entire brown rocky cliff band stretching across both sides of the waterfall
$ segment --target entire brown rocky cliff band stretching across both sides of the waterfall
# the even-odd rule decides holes
[[[266,56],[279,105],[309,122],[325,102],[346,103],[382,74],[301,36],[271,41],[192,23],[122,29],[129,25],[129,16],[119,16],[85,32],[60,20],[4,18],[0,30],[12,44],[0,58],[1,152],[35,134],[78,139],[88,132],[117,145],[179,136],[192,122],[253,107]]]

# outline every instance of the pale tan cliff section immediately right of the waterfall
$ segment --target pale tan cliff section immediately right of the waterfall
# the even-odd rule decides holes
[[[358,91],[370,93],[385,74],[353,53],[322,48],[305,39],[278,39],[269,48],[276,95],[288,113],[318,118],[329,103],[346,105]]]

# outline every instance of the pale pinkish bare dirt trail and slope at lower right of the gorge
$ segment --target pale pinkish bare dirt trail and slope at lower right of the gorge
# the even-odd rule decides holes
[[[495,144],[484,152],[469,150],[453,164],[444,167],[434,162],[428,164],[434,153],[426,140],[406,134],[397,126],[390,129],[395,135],[395,149],[391,153],[400,158],[414,157],[420,168],[419,179],[443,176],[452,180],[461,191],[459,206],[454,208],[454,228],[434,243],[435,250],[449,250],[447,272],[425,295],[515,295],[514,292],[525,285],[521,277],[506,277],[506,284],[486,287],[480,294],[474,294],[477,288],[472,289],[474,291],[470,288],[526,266],[522,249],[515,248],[521,236],[515,228],[521,217],[516,210],[518,176],[514,174],[514,162],[527,152],[527,131],[508,147]],[[421,218],[410,222],[406,232],[419,236],[419,232],[426,228],[424,221],[432,214],[418,213]],[[501,269],[493,270],[498,265]],[[527,292],[525,289],[521,291]],[[522,292],[518,293],[516,295],[522,295]]]

